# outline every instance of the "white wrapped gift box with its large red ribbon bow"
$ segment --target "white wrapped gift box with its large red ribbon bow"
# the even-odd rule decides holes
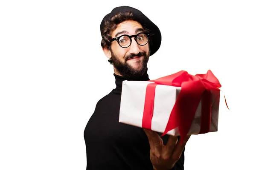
[[[218,131],[221,87],[209,70],[151,81],[123,81],[119,122],[181,136]]]

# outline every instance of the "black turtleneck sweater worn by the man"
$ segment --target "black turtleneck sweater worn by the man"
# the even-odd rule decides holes
[[[99,100],[84,130],[87,170],[153,170],[143,129],[119,123],[122,81],[147,81],[148,74],[137,79],[114,76],[116,88]],[[162,139],[166,144],[168,135]],[[173,170],[183,170],[183,164],[184,151]]]

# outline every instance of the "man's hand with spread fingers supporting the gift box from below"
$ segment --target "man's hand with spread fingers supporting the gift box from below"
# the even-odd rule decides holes
[[[150,144],[150,160],[154,170],[170,170],[174,167],[175,163],[185,148],[186,142],[191,135],[186,136],[183,144],[177,140],[177,136],[169,136],[166,145],[163,145],[163,140],[154,131],[143,129],[148,136]]]

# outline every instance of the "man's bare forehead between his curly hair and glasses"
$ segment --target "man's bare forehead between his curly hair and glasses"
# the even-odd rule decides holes
[[[118,33],[122,32],[125,34],[133,35],[137,34],[138,28],[142,28],[143,26],[134,20],[126,20],[122,23],[119,23],[116,29],[111,33],[112,37],[116,37]],[[120,34],[121,35],[121,34]]]

